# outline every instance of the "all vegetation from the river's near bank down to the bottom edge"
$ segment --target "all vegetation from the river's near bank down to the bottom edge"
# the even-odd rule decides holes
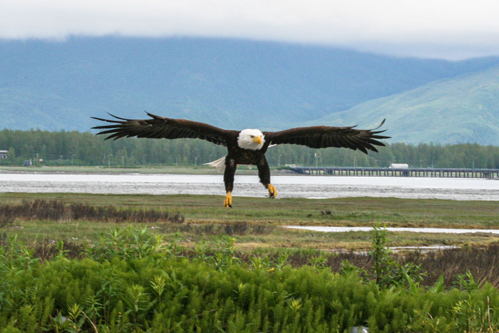
[[[0,194],[0,332],[499,330],[497,238],[380,228],[494,227],[497,202],[220,198]],[[387,249],[431,244],[464,247]]]

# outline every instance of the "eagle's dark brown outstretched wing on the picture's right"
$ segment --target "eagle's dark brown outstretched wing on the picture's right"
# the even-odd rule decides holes
[[[388,139],[389,136],[379,135],[377,131],[385,123],[373,129],[356,129],[355,126],[331,127],[311,126],[296,127],[279,132],[263,132],[265,140],[274,144],[291,143],[304,145],[310,148],[343,147],[353,150],[359,149],[367,154],[367,149],[378,151],[374,146],[384,146],[379,139]]]

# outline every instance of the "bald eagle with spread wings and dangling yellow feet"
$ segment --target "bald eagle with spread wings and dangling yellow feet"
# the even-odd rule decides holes
[[[224,171],[227,192],[224,206],[227,208],[232,207],[234,174],[238,164],[255,165],[258,169],[260,182],[268,190],[269,197],[275,198],[277,191],[270,184],[270,170],[265,159],[265,152],[270,144],[289,143],[311,148],[344,147],[353,150],[359,149],[367,154],[367,150],[377,152],[375,146],[384,146],[377,139],[390,138],[379,135],[384,130],[377,131],[385,120],[373,129],[356,129],[355,126],[310,126],[290,128],[278,132],[261,132],[257,129],[227,130],[192,120],[165,118],[149,112],[147,115],[151,117],[150,119],[125,119],[110,115],[117,120],[92,117],[113,123],[112,125],[92,127],[93,129],[103,129],[97,134],[110,134],[106,140],[133,136],[154,139],[197,138],[227,147]]]

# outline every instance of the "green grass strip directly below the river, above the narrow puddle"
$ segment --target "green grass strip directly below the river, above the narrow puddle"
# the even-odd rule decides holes
[[[4,204],[22,200],[60,200],[94,207],[137,207],[178,212],[187,223],[248,223],[265,225],[335,225],[387,227],[499,228],[495,201],[453,201],[398,198],[250,198],[236,197],[234,208],[223,207],[222,196],[105,195],[82,193],[1,193]],[[330,210],[331,215],[320,211]]]

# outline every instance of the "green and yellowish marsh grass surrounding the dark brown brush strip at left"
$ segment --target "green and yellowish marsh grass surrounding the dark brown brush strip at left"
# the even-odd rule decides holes
[[[396,198],[268,199],[236,197],[235,207],[223,207],[222,196],[200,195],[101,195],[53,193],[2,193],[3,205],[19,205],[23,200],[58,200],[66,204],[93,207],[114,206],[133,210],[153,209],[180,214],[183,223],[155,221],[142,223],[154,231],[179,233],[184,245],[211,242],[220,234],[237,239],[240,249],[299,248],[360,250],[370,246],[370,232],[321,233],[282,228],[284,225],[440,227],[499,229],[499,205],[490,201],[449,201]],[[330,215],[320,211],[330,210]],[[1,232],[16,234],[30,243],[47,241],[93,242],[115,227],[130,222],[72,219],[39,220],[15,218]],[[134,223],[132,223],[134,224]],[[137,224],[137,223],[135,223]],[[388,233],[390,246],[482,246],[496,243],[491,234]]]

